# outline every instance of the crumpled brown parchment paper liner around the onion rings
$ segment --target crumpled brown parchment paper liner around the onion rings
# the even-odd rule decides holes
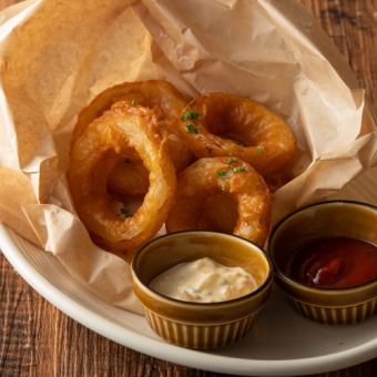
[[[37,0],[2,17],[0,221],[119,307],[141,313],[130,267],[91,242],[64,176],[77,114],[104,89],[165,79],[281,113],[299,155],[275,218],[377,164],[364,91],[294,0]]]

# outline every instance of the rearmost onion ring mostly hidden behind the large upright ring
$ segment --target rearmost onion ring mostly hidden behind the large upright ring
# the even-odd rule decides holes
[[[180,172],[188,165],[192,152],[179,128],[180,113],[186,101],[171,83],[163,80],[125,82],[106,89],[79,114],[73,130],[73,142],[94,119],[101,116],[118,101],[152,109],[159,125],[167,134],[166,147],[176,171]]]

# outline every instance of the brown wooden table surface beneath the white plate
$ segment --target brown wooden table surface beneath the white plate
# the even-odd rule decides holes
[[[377,0],[302,1],[376,105]],[[0,9],[16,2],[0,0]],[[221,376],[144,356],[86,329],[30,288],[2,254],[0,313],[0,376]],[[377,376],[377,359],[320,376]]]

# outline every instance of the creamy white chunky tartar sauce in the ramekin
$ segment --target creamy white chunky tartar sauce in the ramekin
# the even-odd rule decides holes
[[[247,295],[257,288],[257,283],[242,267],[226,267],[204,257],[163,272],[150,287],[184,302],[217,303]]]

